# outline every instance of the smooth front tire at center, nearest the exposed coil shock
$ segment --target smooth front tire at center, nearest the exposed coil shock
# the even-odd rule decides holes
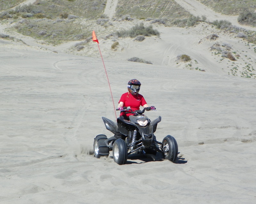
[[[126,163],[127,157],[128,152],[126,142],[119,138],[113,144],[113,159],[117,164],[122,165]]]

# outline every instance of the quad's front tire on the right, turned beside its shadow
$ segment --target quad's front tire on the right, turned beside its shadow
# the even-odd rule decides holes
[[[162,150],[164,151],[164,159],[168,159],[171,162],[175,162],[178,157],[178,144],[174,137],[167,135],[163,139]]]

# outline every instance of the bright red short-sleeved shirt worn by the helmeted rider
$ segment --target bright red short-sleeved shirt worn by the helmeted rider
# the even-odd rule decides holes
[[[142,95],[140,95],[139,93],[136,95],[132,95],[129,92],[124,93],[121,96],[118,103],[120,103],[120,102],[124,103],[124,107],[130,106],[133,111],[139,110],[140,106],[144,106],[145,104],[147,104],[146,100],[144,99],[144,97]],[[125,115],[125,113],[121,112],[120,116],[121,115]],[[132,113],[126,114],[126,116],[128,116],[128,117],[129,117],[129,115],[132,115]]]

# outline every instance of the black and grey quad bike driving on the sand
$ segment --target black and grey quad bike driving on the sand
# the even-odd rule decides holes
[[[116,109],[118,110],[118,109]],[[132,111],[130,107],[124,107],[126,113],[132,113],[129,120],[117,119],[117,124],[105,117],[102,120],[107,128],[115,134],[119,128],[123,138],[115,136],[107,138],[106,135],[97,135],[94,138],[93,149],[94,157],[108,157],[109,151],[113,150],[113,159],[117,164],[125,164],[128,155],[134,152],[142,154],[162,153],[164,159],[172,162],[177,160],[178,144],[174,137],[167,135],[162,142],[156,141],[154,132],[156,131],[157,123],[161,121],[161,116],[151,121],[143,113],[145,110],[151,110],[146,107],[143,110]]]

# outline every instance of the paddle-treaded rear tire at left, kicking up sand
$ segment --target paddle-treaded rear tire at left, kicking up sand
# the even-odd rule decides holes
[[[107,147],[105,140],[108,139],[106,135],[97,135],[94,138],[93,151],[94,157],[108,157],[109,148]]]

